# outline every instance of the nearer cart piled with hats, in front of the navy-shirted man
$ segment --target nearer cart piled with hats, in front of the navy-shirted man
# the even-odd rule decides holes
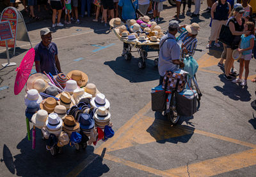
[[[74,70],[60,73],[35,73],[26,81],[26,124],[28,140],[36,148],[36,129],[40,129],[46,149],[52,155],[63,146],[76,150],[107,141],[114,136],[110,103],[88,76]],[[33,124],[32,134],[30,125]],[[32,136],[32,138],[31,138]]]

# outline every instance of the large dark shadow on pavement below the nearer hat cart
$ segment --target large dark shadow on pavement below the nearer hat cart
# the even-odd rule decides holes
[[[66,176],[75,167],[79,166],[89,155],[93,154],[93,146],[88,146],[86,150],[77,151],[68,145],[63,147],[63,153],[53,157],[50,152],[45,149],[46,140],[42,140],[40,137],[40,129],[36,129],[36,149],[32,150],[32,142],[28,141],[25,137],[17,145],[17,149],[20,153],[12,157],[12,153],[9,148],[4,145],[3,148],[3,160],[4,164],[9,169],[10,173],[14,174],[16,171],[17,176]],[[102,157],[98,157],[88,165],[82,172],[90,173],[95,171],[93,176],[101,176],[109,171],[106,164],[102,164]],[[97,172],[97,173],[96,173]],[[77,170],[76,173],[79,174]],[[88,175],[92,176],[92,175]]]

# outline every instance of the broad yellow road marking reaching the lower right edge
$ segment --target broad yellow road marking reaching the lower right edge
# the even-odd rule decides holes
[[[244,167],[256,165],[256,150],[246,150],[244,152],[233,153],[224,157],[204,160],[202,162],[189,164],[187,166],[168,169],[165,172],[175,174],[177,176],[213,176],[216,174],[234,171]],[[188,169],[187,169],[188,168]]]

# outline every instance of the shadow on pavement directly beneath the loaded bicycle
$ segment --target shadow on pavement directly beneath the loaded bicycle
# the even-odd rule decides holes
[[[194,126],[193,123],[189,122],[192,118],[180,117],[178,125],[171,126],[161,112],[156,112],[155,120],[148,127],[147,132],[156,139],[157,143],[188,143],[195,131],[195,128],[188,126],[188,124]],[[187,125],[181,125],[183,121],[187,122]]]

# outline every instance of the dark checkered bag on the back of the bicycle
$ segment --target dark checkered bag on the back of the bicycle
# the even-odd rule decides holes
[[[186,73],[175,73],[172,71],[166,71],[163,80],[163,89],[175,90],[181,92],[186,86],[187,74]]]

